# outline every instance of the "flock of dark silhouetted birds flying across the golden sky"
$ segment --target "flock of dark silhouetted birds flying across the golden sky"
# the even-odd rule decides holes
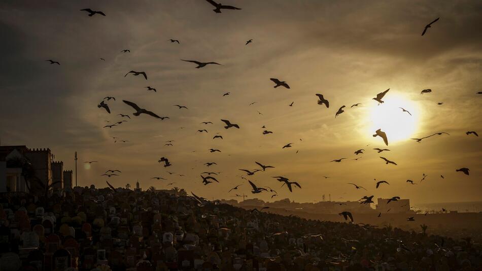
[[[211,4],[212,6],[215,7],[215,9],[213,10],[214,12],[216,13],[221,13],[222,10],[240,10],[240,8],[236,8],[236,7],[233,7],[233,6],[228,6],[228,5],[223,5],[223,4],[220,4],[220,3],[216,3],[212,0],[206,0],[206,2],[208,2],[209,4]],[[102,11],[94,11],[94,10],[91,10],[91,9],[82,9],[81,11],[85,11],[85,12],[88,12],[88,16],[94,16],[94,15],[101,15],[101,16],[106,16],[106,14]],[[439,20],[439,18],[433,20],[432,22],[430,22],[429,24],[427,24],[425,27],[424,27],[424,30],[422,32],[422,36],[426,35],[427,33],[427,30],[428,28],[431,28],[432,27],[432,24],[437,22]],[[177,43],[177,44],[180,44],[180,41],[179,40],[175,40],[175,39],[169,39],[167,40],[171,43]],[[253,42],[253,39],[249,39],[248,41],[246,41],[245,45],[248,45],[250,43]],[[129,53],[130,50],[129,49],[124,49],[121,51],[122,53]],[[100,60],[103,60],[105,61],[104,58],[100,58]],[[186,60],[186,59],[180,59],[181,61],[186,61],[186,62],[190,62],[190,63],[194,63],[196,64],[195,68],[196,69],[201,69],[201,68],[204,68],[208,65],[222,65],[218,62],[213,62],[213,61],[210,61],[210,62],[201,62],[201,61],[197,61],[197,60]],[[52,59],[49,59],[49,60],[46,60],[46,61],[49,61],[50,64],[57,64],[57,65],[60,65],[60,63],[58,61],[55,61],[55,60],[52,60]],[[129,71],[127,72],[124,77],[127,77],[127,76],[134,76],[134,77],[141,77],[143,78],[144,80],[148,80],[148,74],[145,72],[145,71]],[[274,88],[278,88],[278,87],[284,87],[286,89],[290,89],[290,85],[286,82],[286,81],[282,81],[278,78],[269,78],[269,80],[271,80],[273,83],[274,83]],[[148,91],[154,91],[154,92],[157,92],[156,88],[152,87],[152,86],[145,86],[145,88],[148,90]],[[378,105],[381,105],[384,103],[384,100],[383,98],[385,97],[385,95],[388,94],[390,88],[388,88],[387,90],[385,91],[382,91],[378,94],[376,94],[375,97],[373,97],[372,99],[377,101],[378,102]],[[431,89],[424,89],[421,91],[421,94],[424,94],[424,93],[432,93],[432,90]],[[477,92],[477,94],[482,94],[482,92]],[[230,95],[230,92],[226,92],[224,93],[222,96],[225,97],[225,96],[228,96]],[[317,93],[316,94],[318,100],[317,100],[317,104],[320,105],[320,106],[325,106],[327,109],[330,107],[330,102],[329,100],[323,95],[323,94],[319,94]],[[103,109],[105,110],[108,114],[111,114],[111,110],[109,108],[109,105],[108,105],[108,102],[110,102],[111,100],[113,101],[116,101],[116,98],[115,97],[112,97],[112,96],[108,96],[108,97],[105,97],[104,99],[102,99],[100,101],[100,103],[97,105],[98,108],[100,109]],[[129,100],[122,100],[122,102],[128,106],[130,109],[132,109],[134,112],[132,112],[132,115],[133,116],[136,116],[136,117],[139,117],[141,115],[146,115],[146,116],[150,116],[150,117],[154,117],[156,119],[160,119],[160,120],[164,120],[164,119],[169,119],[168,116],[159,116],[157,115],[156,113],[154,113],[153,111],[151,110],[148,110],[142,106],[140,106],[139,104],[137,103],[134,103],[133,101],[129,101]],[[253,105],[255,104],[256,102],[250,104]],[[291,103],[289,106],[293,106],[294,102]],[[443,103],[438,103],[438,105],[442,105]],[[356,108],[358,107],[359,105],[361,105],[361,103],[357,103],[357,104],[354,104],[350,107],[350,109],[352,108]],[[188,110],[188,108],[186,106],[182,106],[182,105],[173,105],[174,107],[178,107],[179,110]],[[405,110],[404,108],[402,107],[399,107],[402,112],[406,112],[408,114],[407,117],[411,116],[411,113],[408,112],[407,110]],[[335,113],[335,118],[337,118],[340,114],[344,113],[346,109],[346,106],[341,106],[339,107],[339,109],[336,111]],[[262,115],[261,112],[258,111],[258,113],[260,115]],[[104,128],[113,128],[115,126],[118,126],[118,125],[121,125],[122,123],[124,122],[127,122],[127,121],[131,121],[131,117],[129,116],[129,114],[118,114],[118,116],[124,118],[123,120],[121,121],[118,121],[114,124],[109,124],[109,125],[106,125],[104,126]],[[226,119],[220,119],[221,122],[224,123],[224,128],[225,129],[230,129],[230,128],[236,128],[236,129],[240,129],[240,125],[237,124],[237,123],[233,123],[231,122],[230,120],[226,120]],[[202,122],[202,124],[205,124],[205,125],[208,125],[208,124],[213,124],[213,122],[211,121],[207,121],[207,122]],[[184,128],[184,127],[181,127],[181,128]],[[263,126],[262,128],[265,128],[265,126]],[[199,133],[202,133],[202,132],[206,132],[208,133],[208,130],[207,129],[198,129],[197,132]],[[273,133],[272,131],[269,131],[267,129],[263,130],[262,134],[263,135],[267,135],[267,134],[270,134],[270,133]],[[433,134],[431,134],[430,136],[426,136],[426,137],[422,137],[422,138],[414,138],[412,140],[415,140],[416,142],[418,143],[421,143],[423,140],[426,140],[426,139],[429,139],[431,137],[434,137],[434,136],[441,136],[442,134],[446,134],[447,136],[449,136],[450,134],[447,133],[447,132],[435,132]],[[478,137],[478,134],[475,132],[475,131],[467,131],[466,132],[467,135],[469,134],[473,134],[474,136]],[[380,137],[382,140],[383,140],[383,143],[388,146],[389,145],[389,137],[387,136],[386,132],[384,132],[382,129],[377,129],[376,131],[374,131],[374,134],[373,134],[373,137]],[[114,143],[116,142],[128,142],[126,140],[121,140],[119,138],[116,138],[116,137],[113,137],[113,139],[115,140]],[[216,134],[214,137],[213,137],[213,140],[222,140],[223,137],[221,134]],[[301,141],[301,139],[300,139]],[[173,142],[174,140],[170,140],[170,141],[166,141],[165,145],[166,146],[173,146]],[[284,146],[282,146],[282,149],[285,149],[285,148],[291,148],[292,147],[292,144],[294,143],[288,143]],[[367,145],[368,146],[368,145]],[[381,149],[381,148],[374,148],[373,150],[376,150],[378,153],[382,153],[382,152],[386,152],[386,151],[390,151],[389,149]],[[221,150],[219,149],[209,149],[210,152],[221,152]],[[359,154],[363,154],[364,153],[364,149],[359,149],[359,150],[356,150],[354,153],[355,155],[359,155]],[[360,157],[359,157],[360,158]],[[358,160],[359,158],[355,158],[353,160]],[[397,165],[396,162],[394,161],[391,161],[389,160],[388,158],[386,157],[383,157],[383,156],[380,156],[380,158],[386,163],[386,164],[393,164],[393,165]],[[342,160],[345,160],[345,159],[348,159],[346,157],[343,157],[343,158],[339,158],[339,159],[333,159],[331,160],[330,162],[342,162]],[[93,163],[93,162],[97,162],[97,161],[85,161],[86,163]],[[173,164],[171,164],[169,162],[169,159],[167,157],[161,157],[159,160],[158,160],[159,163],[163,163],[163,166],[164,167],[169,167],[169,166],[172,166]],[[249,180],[247,177],[250,177],[250,176],[253,176],[255,175],[256,173],[258,172],[266,172],[269,168],[274,168],[274,166],[272,165],[265,165],[265,164],[262,164],[260,162],[257,162],[255,161],[255,163],[257,164],[258,168],[252,170],[252,169],[245,169],[245,168],[239,168],[239,171],[243,172],[244,175],[240,176],[240,178],[242,179],[245,179],[248,184],[251,186],[251,192],[253,194],[257,194],[257,193],[262,193],[262,192],[270,192],[272,193],[271,195],[271,198],[274,197],[274,196],[277,196],[277,192],[273,189],[271,189],[270,187],[267,187],[267,186],[258,186],[256,185],[255,183],[253,183],[251,180]],[[206,167],[210,167],[210,166],[213,166],[213,165],[217,165],[216,162],[206,162],[204,163],[204,165]],[[469,168],[466,168],[466,167],[462,167],[462,168],[458,168],[456,170],[457,172],[462,172],[464,173],[465,175],[469,175]],[[121,171],[119,170],[108,170],[106,171],[105,174],[102,174],[101,176],[107,176],[108,178],[111,178],[111,177],[114,177],[114,176],[119,176],[119,174],[121,173]],[[168,174],[174,174],[172,172],[167,172]],[[217,175],[220,174],[220,172],[203,172],[201,173],[199,176],[201,178],[201,182],[202,184],[204,185],[209,185],[209,184],[212,184],[212,183],[219,183],[219,180],[217,179]],[[179,176],[184,176],[184,175],[179,175]],[[440,175],[441,178],[443,178],[442,175]],[[327,176],[323,176],[324,178],[329,178]],[[424,178],[421,180],[423,181],[425,179],[426,175],[424,174]],[[290,180],[289,178],[287,177],[284,177],[284,176],[273,176],[272,178],[276,179],[279,183],[281,183],[281,187],[284,187],[286,186],[286,188],[290,191],[290,192],[293,192],[293,189],[294,188],[299,188],[301,189],[301,185],[297,182],[297,181],[292,181]],[[159,176],[156,176],[156,177],[152,177],[151,179],[155,179],[155,180],[167,180],[163,177],[159,177]],[[382,185],[390,185],[387,181],[385,180],[376,180],[375,179],[375,188],[378,189],[380,188]],[[407,180],[406,183],[408,184],[416,184],[414,183],[414,181],[412,180]],[[174,183],[170,183],[169,185],[171,184],[174,184]],[[355,183],[348,183],[349,185],[353,185],[355,189],[364,189],[364,190],[367,190],[366,188],[362,187],[362,186],[359,186]],[[108,185],[114,190],[114,187],[108,183]],[[240,186],[242,186],[243,184],[238,184],[238,185],[235,185],[234,187],[232,187],[231,189],[229,189],[228,192],[232,192],[234,190],[238,190]],[[193,196],[199,200],[199,202],[201,203],[201,199],[200,197],[196,196],[194,193],[192,193]],[[236,196],[240,196],[238,194],[236,194]],[[374,203],[372,201],[372,198],[373,198],[373,195],[371,196],[364,196],[362,197],[359,201],[360,201],[360,204],[372,204]],[[390,202],[392,201],[397,201],[398,199],[400,199],[399,196],[393,196],[391,197],[390,199],[388,199],[388,202],[387,204],[389,204]],[[341,205],[341,204],[340,204]],[[346,220],[349,219],[351,221],[353,221],[353,216],[350,212],[341,212],[339,214],[340,216],[343,216]],[[380,215],[379,215],[380,216]],[[407,219],[408,221],[413,221],[413,217]]]

